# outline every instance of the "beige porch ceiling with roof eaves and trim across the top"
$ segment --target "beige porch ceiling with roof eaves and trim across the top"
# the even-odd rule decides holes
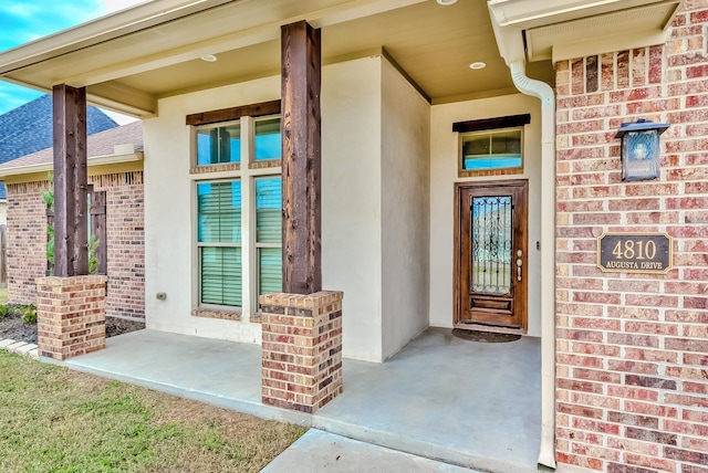
[[[0,80],[86,86],[96,105],[150,116],[162,97],[279,74],[281,25],[308,20],[322,29],[325,64],[385,50],[433,103],[445,103],[514,93],[512,61],[532,61],[527,73],[553,85],[551,57],[660,44],[679,3],[153,0],[0,53]],[[218,61],[200,60],[208,54]]]

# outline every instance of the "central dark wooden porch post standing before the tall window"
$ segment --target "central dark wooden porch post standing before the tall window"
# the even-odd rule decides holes
[[[322,290],[320,30],[282,27],[283,292]]]

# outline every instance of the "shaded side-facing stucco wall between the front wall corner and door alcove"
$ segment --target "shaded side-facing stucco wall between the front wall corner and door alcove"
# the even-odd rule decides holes
[[[383,358],[428,326],[430,105],[382,62]]]

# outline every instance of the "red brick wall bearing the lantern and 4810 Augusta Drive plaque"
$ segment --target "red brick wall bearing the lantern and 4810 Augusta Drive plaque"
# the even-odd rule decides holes
[[[666,45],[556,64],[556,458],[708,473],[708,2]],[[623,122],[670,123],[660,177],[622,182]],[[674,270],[613,274],[605,231],[667,232]]]

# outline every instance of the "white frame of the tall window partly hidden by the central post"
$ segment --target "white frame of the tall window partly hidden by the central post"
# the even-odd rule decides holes
[[[206,311],[223,311],[223,312],[240,312],[241,322],[249,322],[251,316],[259,313],[258,304],[258,248],[281,248],[274,243],[256,243],[256,179],[258,178],[274,178],[282,179],[282,168],[280,162],[278,166],[253,166],[254,162],[268,162],[264,160],[256,161],[254,154],[254,132],[256,122],[261,119],[281,118],[280,115],[267,115],[262,117],[244,116],[238,120],[216,123],[214,125],[202,125],[199,127],[192,127],[192,167],[196,167],[196,154],[197,154],[197,128],[216,128],[226,124],[240,122],[241,125],[241,162],[237,170],[216,170],[214,172],[198,172],[191,174],[191,212],[192,212],[192,308],[206,309]],[[281,118],[282,119],[282,118]],[[223,182],[233,179],[241,181],[241,307],[220,306],[220,305],[200,305],[200,277],[201,272],[199,267],[199,242],[197,233],[197,183],[204,182]]]

